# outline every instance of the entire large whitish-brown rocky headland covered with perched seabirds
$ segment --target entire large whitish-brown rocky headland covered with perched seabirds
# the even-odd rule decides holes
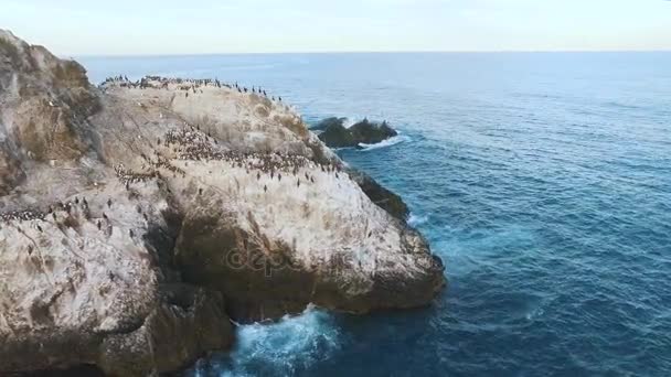
[[[297,114],[245,91],[96,88],[0,31],[0,375],[170,371],[230,346],[230,316],[432,301],[445,279],[424,238]]]

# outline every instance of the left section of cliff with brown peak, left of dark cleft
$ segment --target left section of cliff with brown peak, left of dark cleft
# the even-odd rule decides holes
[[[139,130],[105,140],[132,121],[108,101],[78,64],[0,31],[0,375],[140,376],[232,342],[221,292],[171,266],[169,187],[115,171],[106,149],[143,147]]]

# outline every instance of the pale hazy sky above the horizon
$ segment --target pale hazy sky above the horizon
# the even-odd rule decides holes
[[[60,55],[671,50],[668,0],[0,0]]]

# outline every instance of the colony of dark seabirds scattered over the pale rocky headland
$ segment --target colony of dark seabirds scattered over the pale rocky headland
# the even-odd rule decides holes
[[[137,88],[148,88],[157,86],[152,83],[160,83],[159,88],[168,87],[170,84],[177,84],[182,90],[193,90],[194,93],[201,88],[202,86],[215,86],[215,87],[227,87],[230,89],[237,89],[239,93],[253,93],[259,94],[267,97],[265,90],[260,87],[253,87],[251,90],[245,87],[239,87],[236,84],[225,84],[221,83],[219,79],[181,79],[181,78],[164,78],[159,76],[146,76],[137,82],[129,80],[126,76],[116,76],[108,77],[103,85],[108,83],[115,83],[116,85],[123,87],[137,87]],[[275,99],[273,97],[273,99]],[[279,97],[281,100],[281,97]],[[200,127],[193,127],[185,123],[185,128],[180,130],[171,130],[169,131],[163,140],[160,138],[157,140],[157,148],[153,149],[152,155],[147,155],[146,153],[140,153],[140,157],[143,161],[149,164],[151,169],[146,170],[145,173],[134,172],[131,170],[126,169],[124,164],[117,164],[114,166],[116,176],[120,180],[121,183],[129,190],[130,184],[146,182],[152,179],[160,179],[160,170],[164,169],[171,172],[174,176],[178,174],[182,177],[187,176],[187,172],[178,166],[175,166],[171,162],[171,158],[167,158],[161,154],[159,151],[161,148],[167,148],[174,153],[177,160],[182,161],[227,161],[233,166],[245,169],[247,174],[255,174],[257,180],[260,180],[262,175],[269,175],[270,179],[277,179],[278,181],[283,180],[283,173],[286,179],[289,179],[289,175],[292,175],[296,180],[296,185],[300,187],[301,183],[315,183],[315,176],[310,175],[308,172],[305,172],[305,181],[301,181],[302,176],[299,176],[299,170],[301,168],[308,166],[311,169],[319,168],[323,173],[333,173],[336,177],[339,177],[339,173],[341,173],[342,169],[340,165],[334,163],[316,163],[310,159],[299,155],[299,154],[289,154],[284,152],[271,152],[271,153],[258,153],[258,152],[242,152],[235,150],[225,150],[223,148],[216,148],[215,146],[219,143],[215,138],[211,134],[205,134],[200,130]],[[143,166],[146,168],[146,166]],[[224,172],[225,173],[225,172]],[[267,191],[267,186],[264,186],[264,190]],[[199,193],[202,193],[202,188],[199,190]],[[107,206],[111,207],[111,200],[107,201]],[[10,211],[6,213],[0,213],[0,223],[7,225],[8,223],[18,220],[18,222],[31,222],[35,220],[38,223],[36,228],[40,231],[43,231],[42,227],[39,225],[39,222],[45,220],[54,220],[58,224],[66,226],[71,226],[76,222],[67,222],[64,219],[67,218],[58,218],[56,216],[56,212],[65,212],[66,217],[74,214],[82,214],[86,219],[92,220],[90,212],[88,208],[88,202],[86,198],[79,200],[75,198],[72,202],[62,203],[58,202],[55,205],[50,205],[46,211],[39,209],[25,209],[25,211]],[[148,220],[147,215],[145,214],[145,219]],[[58,222],[58,219],[61,222]],[[103,230],[103,227],[109,228],[111,224],[109,224],[109,218],[107,214],[103,213],[103,218],[96,219],[96,226],[99,230]],[[1,227],[1,225],[0,225]],[[132,236],[132,230],[129,230]]]

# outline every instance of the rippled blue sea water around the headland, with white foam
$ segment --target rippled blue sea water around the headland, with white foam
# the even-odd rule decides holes
[[[446,262],[432,308],[309,309],[237,330],[191,376],[671,376],[671,53],[81,60],[89,76],[262,85],[308,121],[386,119],[341,150]]]

